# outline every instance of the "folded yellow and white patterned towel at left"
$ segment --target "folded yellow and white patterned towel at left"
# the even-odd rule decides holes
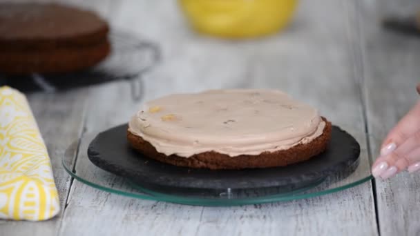
[[[28,101],[0,87],[0,218],[37,221],[58,212],[50,158]]]

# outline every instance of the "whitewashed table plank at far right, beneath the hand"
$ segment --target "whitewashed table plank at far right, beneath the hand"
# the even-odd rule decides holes
[[[377,19],[387,14],[408,15],[418,1],[365,1],[363,60],[368,129],[374,158],[388,131],[419,99],[420,39],[383,30]],[[420,175],[401,173],[376,182],[376,201],[381,235],[420,235]]]

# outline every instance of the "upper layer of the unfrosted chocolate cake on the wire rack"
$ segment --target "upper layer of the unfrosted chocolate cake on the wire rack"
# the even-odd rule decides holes
[[[55,3],[0,3],[0,49],[90,46],[108,35],[95,12]]]

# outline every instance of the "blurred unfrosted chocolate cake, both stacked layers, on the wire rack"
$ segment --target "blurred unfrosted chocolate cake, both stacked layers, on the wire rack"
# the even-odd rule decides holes
[[[55,3],[0,3],[0,72],[83,70],[105,59],[108,23],[95,12]]]

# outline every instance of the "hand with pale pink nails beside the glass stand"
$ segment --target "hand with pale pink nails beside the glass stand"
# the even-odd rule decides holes
[[[417,86],[420,95],[420,84]],[[388,179],[408,168],[420,170],[420,101],[392,128],[372,166],[372,175]]]

